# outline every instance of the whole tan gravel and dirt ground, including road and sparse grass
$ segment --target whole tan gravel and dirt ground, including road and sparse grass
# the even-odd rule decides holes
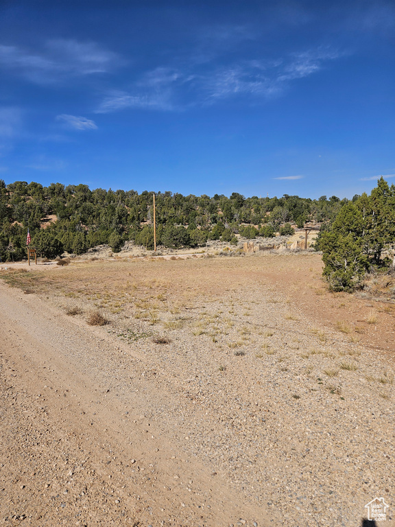
[[[0,522],[393,524],[394,303],[313,253],[6,267]]]

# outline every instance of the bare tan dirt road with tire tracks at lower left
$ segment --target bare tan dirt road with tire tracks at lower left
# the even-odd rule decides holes
[[[169,419],[180,403],[139,358],[35,295],[3,283],[0,294],[3,519],[219,526],[265,515],[185,452]]]

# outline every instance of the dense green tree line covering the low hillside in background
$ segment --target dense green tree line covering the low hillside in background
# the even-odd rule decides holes
[[[237,244],[236,234],[248,239],[276,232],[292,233],[291,223],[331,224],[348,200],[336,196],[318,200],[284,194],[281,198],[182,196],[155,193],[157,243],[169,248],[204,246],[208,239]],[[41,255],[52,258],[67,251],[82,254],[108,244],[114,252],[132,241],[154,246],[152,192],[94,189],[87,185],[0,180],[0,257],[26,257],[29,229]],[[43,228],[45,227],[45,228]]]

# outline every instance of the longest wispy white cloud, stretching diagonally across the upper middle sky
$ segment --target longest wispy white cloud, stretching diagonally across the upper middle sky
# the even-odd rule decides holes
[[[184,71],[158,67],[141,75],[130,91],[109,93],[96,112],[123,108],[180,110],[237,96],[250,96],[256,102],[281,95],[291,82],[313,75],[339,56],[337,51],[315,49],[272,60],[244,60],[214,69],[196,64],[190,64]]]

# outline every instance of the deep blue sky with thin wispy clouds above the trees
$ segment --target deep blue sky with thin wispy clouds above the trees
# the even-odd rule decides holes
[[[394,88],[393,1],[1,0],[0,178],[351,198]]]

